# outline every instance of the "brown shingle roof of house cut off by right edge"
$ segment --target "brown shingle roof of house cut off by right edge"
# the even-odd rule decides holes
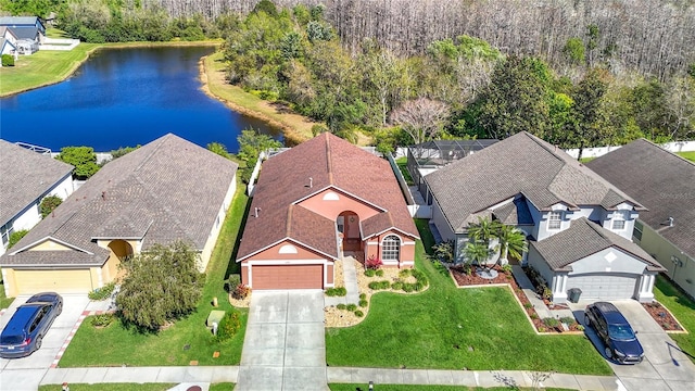
[[[645,205],[640,219],[695,257],[695,163],[640,139],[586,166]]]

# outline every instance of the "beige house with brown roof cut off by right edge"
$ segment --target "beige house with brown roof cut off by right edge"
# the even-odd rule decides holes
[[[695,298],[695,164],[640,139],[586,165],[648,209],[632,240]]]

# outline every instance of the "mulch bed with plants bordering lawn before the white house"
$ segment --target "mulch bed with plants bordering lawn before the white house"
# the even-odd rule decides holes
[[[579,327],[580,325],[578,323],[568,325],[569,330],[565,330],[563,326],[559,326],[556,328],[548,328],[547,326],[545,326],[543,324],[543,319],[539,318],[539,315],[535,312],[535,308],[533,307],[531,302],[529,301],[529,298],[526,297],[526,294],[523,293],[523,290],[521,290],[521,288],[519,288],[519,286],[517,285],[517,281],[514,279],[514,276],[511,275],[511,273],[510,272],[505,273],[500,266],[494,266],[493,268],[498,273],[497,277],[493,279],[482,278],[478,276],[475,272],[468,274],[466,272],[467,270],[466,266],[452,266],[450,268],[450,273],[452,274],[452,277],[454,277],[454,280],[456,280],[456,285],[458,287],[485,286],[491,283],[508,283],[511,287],[514,294],[516,294],[517,299],[519,299],[519,301],[521,302],[521,306],[523,307],[523,311],[526,311],[526,313],[529,315],[529,318],[531,318],[531,323],[533,323],[533,327],[535,327],[535,329],[539,332],[560,333],[565,331],[581,331]]]

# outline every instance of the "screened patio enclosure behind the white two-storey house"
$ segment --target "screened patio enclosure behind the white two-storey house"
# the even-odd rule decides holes
[[[424,176],[495,142],[497,142],[495,139],[432,140],[410,146],[408,147],[408,172],[420,194],[422,194],[428,204],[431,204],[431,197],[425,179],[422,179]]]

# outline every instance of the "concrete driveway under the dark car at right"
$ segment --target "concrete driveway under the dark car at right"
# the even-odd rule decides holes
[[[695,390],[695,364],[681,352],[678,344],[654,321],[652,316],[634,300],[611,301],[626,316],[644,348],[645,360],[637,365],[618,365],[608,362],[628,391],[685,391]],[[585,303],[589,304],[589,303]],[[583,306],[574,315],[584,320]],[[603,341],[592,328],[586,336],[603,355]],[[605,357],[605,355],[604,355]]]

